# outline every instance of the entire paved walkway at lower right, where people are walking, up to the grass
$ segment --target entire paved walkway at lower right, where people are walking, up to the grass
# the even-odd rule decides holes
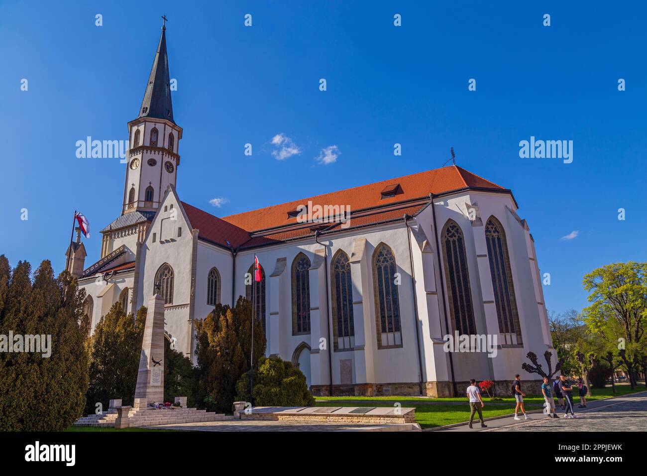
[[[517,421],[514,416],[507,416],[486,421],[487,428],[481,428],[481,422],[475,421],[473,429],[463,424],[436,431],[644,431],[647,392],[589,402],[584,409],[576,405],[575,414],[579,418],[564,418],[564,411],[559,408],[557,414],[559,420],[547,418],[543,413],[529,413],[529,420]]]

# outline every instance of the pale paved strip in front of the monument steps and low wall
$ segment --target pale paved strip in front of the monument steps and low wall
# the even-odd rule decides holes
[[[407,425],[408,426],[408,425]],[[183,423],[156,425],[154,429],[188,431],[393,431],[399,425],[336,424],[323,422],[276,422],[272,420],[228,420],[225,422]],[[404,425],[402,425],[404,427]]]

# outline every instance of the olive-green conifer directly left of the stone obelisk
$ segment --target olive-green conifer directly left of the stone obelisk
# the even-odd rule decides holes
[[[146,312],[142,306],[137,317],[126,315],[121,304],[115,302],[96,324],[87,341],[90,386],[85,413],[94,413],[96,403],[107,409],[113,398],[121,398],[123,405],[133,404]]]

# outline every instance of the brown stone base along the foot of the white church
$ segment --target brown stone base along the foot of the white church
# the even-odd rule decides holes
[[[521,380],[521,390],[526,394],[541,394],[543,380]],[[465,396],[469,381],[457,381],[458,397]],[[494,395],[497,397],[510,396],[512,380],[495,380]],[[357,383],[355,385],[333,385],[333,396],[416,396],[420,394],[418,382],[411,383]],[[331,396],[329,385],[312,385],[310,392],[313,396]],[[449,398],[454,396],[452,382],[429,381],[422,385],[425,396],[433,398]],[[490,391],[492,392],[492,391]],[[483,393],[487,398],[487,394]]]

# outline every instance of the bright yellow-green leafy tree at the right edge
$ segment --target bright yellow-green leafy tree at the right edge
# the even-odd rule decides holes
[[[589,306],[584,322],[606,346],[616,346],[620,367],[635,388],[641,367],[647,370],[647,263],[614,263],[584,276]],[[646,382],[647,385],[647,382]]]

